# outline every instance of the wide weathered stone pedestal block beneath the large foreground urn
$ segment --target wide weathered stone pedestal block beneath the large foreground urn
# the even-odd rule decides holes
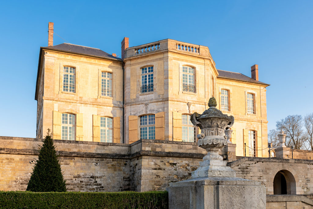
[[[169,208],[265,208],[266,191],[258,181],[236,177],[195,178],[170,183]]]

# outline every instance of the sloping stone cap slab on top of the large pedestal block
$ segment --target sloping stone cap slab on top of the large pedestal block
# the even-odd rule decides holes
[[[201,177],[170,183],[170,186],[203,186],[203,185],[252,185],[262,186],[259,181],[238,177]]]

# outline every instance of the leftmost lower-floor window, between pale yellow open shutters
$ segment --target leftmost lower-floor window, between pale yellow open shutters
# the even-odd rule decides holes
[[[75,140],[75,115],[62,113],[62,140]]]

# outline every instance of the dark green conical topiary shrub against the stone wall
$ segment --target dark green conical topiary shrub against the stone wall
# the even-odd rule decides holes
[[[33,168],[26,191],[66,191],[60,162],[49,132],[48,129],[48,135],[45,136],[44,144],[40,147],[38,160]]]

